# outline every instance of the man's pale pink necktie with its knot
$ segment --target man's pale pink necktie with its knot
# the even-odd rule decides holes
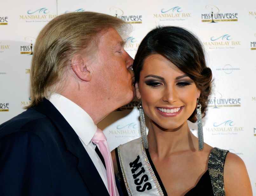
[[[114,175],[114,169],[113,169],[113,162],[111,159],[110,150],[108,147],[107,139],[104,135],[104,133],[97,128],[97,131],[95,135],[92,138],[93,143],[95,143],[102,154],[105,164],[106,164],[106,171],[107,171],[107,180],[108,180],[108,190],[110,196],[119,196],[116,181],[115,181],[115,175]]]

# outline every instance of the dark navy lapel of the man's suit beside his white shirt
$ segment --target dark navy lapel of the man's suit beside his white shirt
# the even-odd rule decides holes
[[[77,169],[88,186],[88,189],[91,191],[91,194],[108,195],[109,193],[104,182],[102,181],[90,156],[84,149],[74,129],[59,113],[59,111],[45,98],[42,103],[34,106],[33,108],[46,115],[59,129],[67,150],[78,158]]]

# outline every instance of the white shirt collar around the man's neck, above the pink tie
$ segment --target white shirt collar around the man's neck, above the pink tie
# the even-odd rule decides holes
[[[97,126],[94,124],[91,116],[76,103],[60,94],[54,93],[49,101],[63,115],[78,137],[87,146],[97,130]]]

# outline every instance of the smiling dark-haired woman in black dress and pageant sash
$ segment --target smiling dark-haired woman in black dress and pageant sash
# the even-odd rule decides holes
[[[143,139],[112,151],[127,195],[252,195],[244,162],[203,143],[212,72],[196,36],[180,27],[153,29],[133,69]],[[143,110],[150,119],[148,143]],[[197,119],[199,140],[187,123]]]

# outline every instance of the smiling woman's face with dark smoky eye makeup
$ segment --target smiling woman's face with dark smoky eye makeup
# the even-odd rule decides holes
[[[195,82],[159,54],[145,59],[135,86],[145,114],[164,129],[187,123],[200,96]]]

